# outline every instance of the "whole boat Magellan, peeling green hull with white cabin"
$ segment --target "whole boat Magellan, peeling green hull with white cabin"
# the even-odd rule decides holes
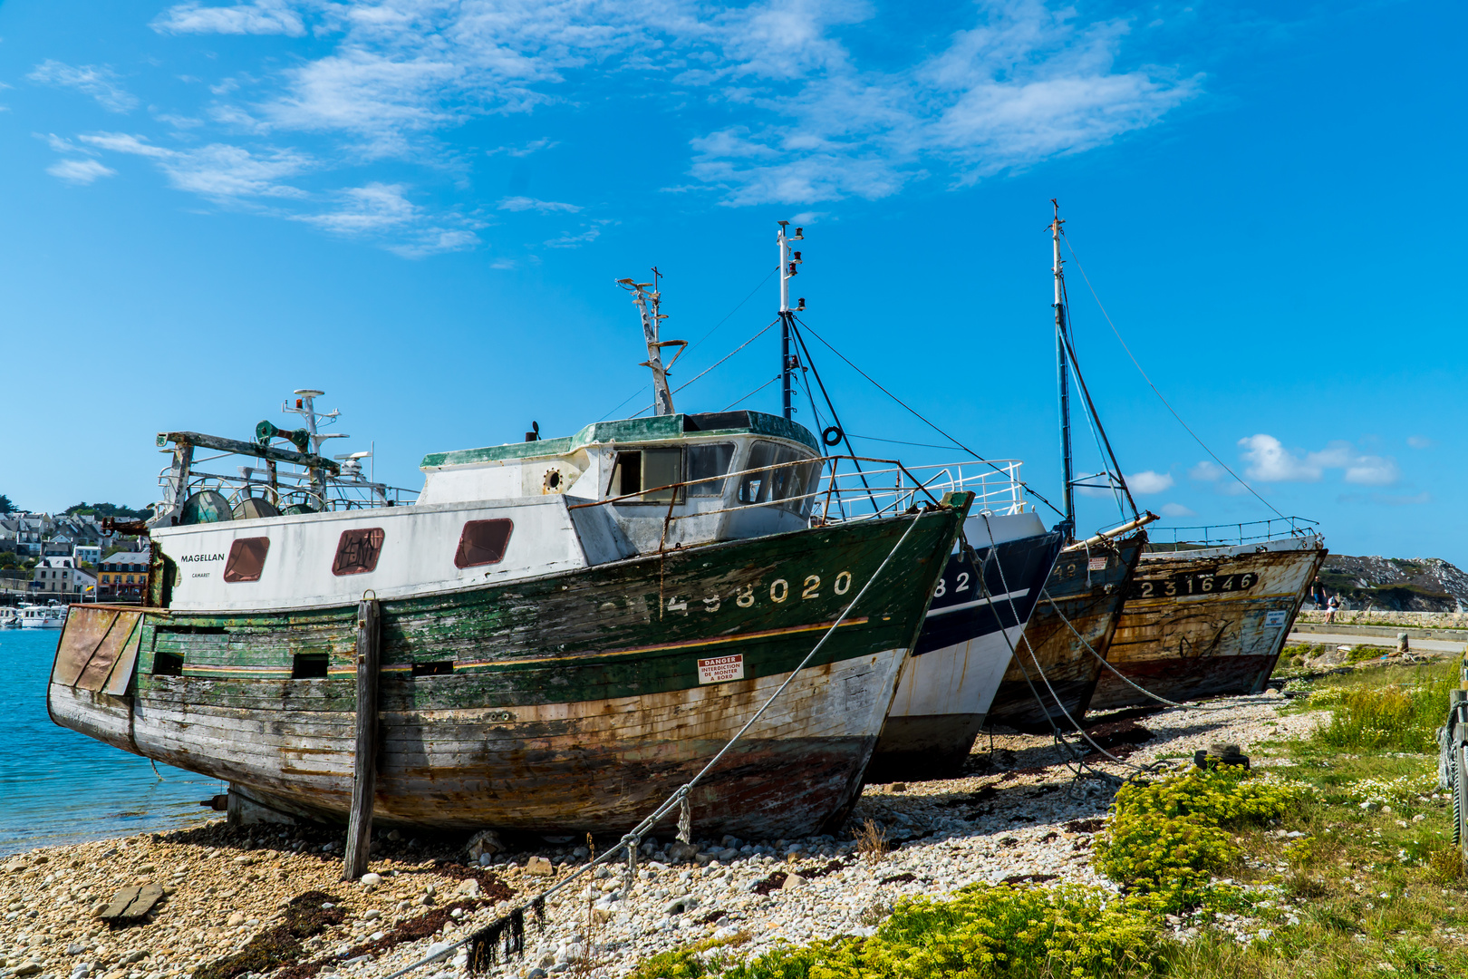
[[[411,503],[320,455],[320,392],[298,392],[307,429],[261,423],[255,443],[160,434],[150,608],[73,609],[51,718],[272,810],[345,819],[370,709],[358,602],[376,602],[376,820],[621,832],[826,637],[690,800],[711,834],[840,818],[972,495],[915,489],[891,515],[824,523],[815,436],[674,412],[658,296],[630,285],[658,414],[429,455]],[[263,465],[201,473],[195,448]]]

